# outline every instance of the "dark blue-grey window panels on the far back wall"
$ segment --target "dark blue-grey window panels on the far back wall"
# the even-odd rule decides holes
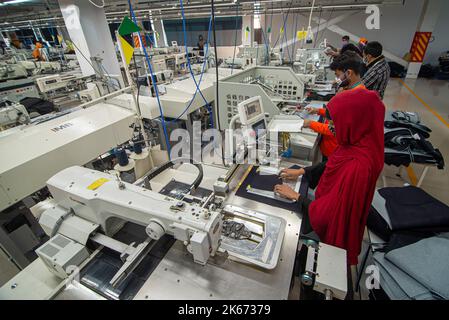
[[[236,20],[237,19],[237,20]],[[237,26],[237,45],[241,44],[242,17],[223,17],[216,19],[217,45],[234,46]],[[184,33],[182,20],[164,20],[165,32],[168,43],[177,41],[179,45],[184,45]],[[198,43],[198,36],[201,34],[206,39],[209,29],[209,18],[198,18],[186,20],[187,45],[195,47]],[[211,34],[211,42],[213,35]]]

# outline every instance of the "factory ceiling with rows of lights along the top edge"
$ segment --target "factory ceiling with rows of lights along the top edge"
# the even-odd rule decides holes
[[[98,5],[103,0],[92,1]],[[316,11],[364,10],[369,4],[401,5],[404,0],[316,0]],[[180,18],[179,1],[132,0],[139,19]],[[216,16],[260,14],[283,14],[287,12],[310,11],[312,0],[215,0]],[[184,0],[187,17],[206,17],[210,14],[210,0]],[[118,21],[129,15],[127,0],[104,0],[104,8],[109,22]],[[58,0],[0,0],[0,29],[3,31],[37,27],[63,26]]]

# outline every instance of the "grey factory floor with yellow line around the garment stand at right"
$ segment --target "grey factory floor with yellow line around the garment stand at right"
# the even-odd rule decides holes
[[[407,88],[408,87],[408,88]],[[389,110],[417,112],[421,121],[432,129],[429,141],[440,149],[446,164],[449,163],[449,82],[441,80],[405,80],[391,79],[384,98]],[[385,167],[387,185],[402,186],[415,184],[424,167],[413,164],[411,169],[402,170],[401,178],[395,167]],[[379,181],[379,187],[383,186]],[[426,192],[449,205],[449,170],[431,168],[421,186]]]

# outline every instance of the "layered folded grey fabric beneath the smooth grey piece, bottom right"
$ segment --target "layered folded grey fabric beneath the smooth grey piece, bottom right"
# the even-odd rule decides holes
[[[434,300],[426,287],[386,260],[384,253],[376,252],[374,261],[379,267],[380,285],[390,299]]]

